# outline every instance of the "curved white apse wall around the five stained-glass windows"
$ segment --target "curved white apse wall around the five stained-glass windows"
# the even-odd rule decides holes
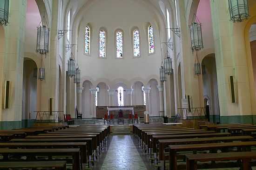
[[[101,10],[99,10],[101,9]],[[125,19],[125,20],[124,20]],[[155,34],[155,53],[148,55],[147,24],[151,23]],[[84,54],[84,28],[91,25],[91,56]],[[141,57],[133,57],[133,45],[131,29],[137,26],[141,35]],[[98,58],[98,32],[101,27],[107,30],[106,58]],[[116,29],[124,31],[124,55],[123,59],[115,59],[114,32]],[[161,64],[160,34],[154,16],[139,3],[128,0],[100,1],[91,6],[83,16],[78,34],[79,65],[81,77],[90,77],[94,81],[108,79],[112,87],[118,82],[115,79],[131,81],[134,78],[146,79],[158,77]],[[133,84],[132,82],[131,84]],[[110,85],[111,86],[111,85]]]

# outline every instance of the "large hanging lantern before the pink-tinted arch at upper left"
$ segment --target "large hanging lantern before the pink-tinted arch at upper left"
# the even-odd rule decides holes
[[[42,26],[40,24],[42,23]],[[46,54],[49,47],[49,31],[50,29],[45,25],[46,19],[43,16],[42,21],[37,27],[37,37],[36,37],[36,52],[40,54]]]

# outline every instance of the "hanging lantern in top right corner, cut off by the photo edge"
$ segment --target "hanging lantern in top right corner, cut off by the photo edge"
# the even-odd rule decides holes
[[[248,0],[229,0],[230,19],[233,22],[243,22],[249,18]]]

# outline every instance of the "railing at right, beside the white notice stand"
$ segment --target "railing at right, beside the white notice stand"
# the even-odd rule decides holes
[[[206,118],[205,107],[177,108],[177,111],[183,116],[182,119],[205,119]]]

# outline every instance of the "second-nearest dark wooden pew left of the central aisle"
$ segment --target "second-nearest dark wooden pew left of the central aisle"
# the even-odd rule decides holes
[[[18,156],[72,156],[73,159],[73,170],[81,170],[82,164],[80,162],[80,149],[78,148],[67,148],[67,149],[0,149],[0,154],[3,155],[1,161],[8,161],[9,155]],[[10,160],[12,161],[12,160]],[[22,161],[24,161],[22,159]],[[29,160],[28,161],[32,161]]]

